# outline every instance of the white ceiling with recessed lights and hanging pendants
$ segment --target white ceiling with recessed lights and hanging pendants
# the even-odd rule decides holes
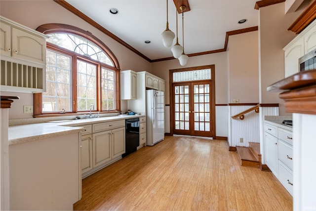
[[[160,38],[166,29],[166,0],[66,1],[149,60],[172,57],[171,47],[164,47]],[[188,0],[190,11],[184,13],[185,53],[223,49],[226,32],[257,26],[256,1]],[[118,14],[111,14],[110,8],[117,8]],[[247,21],[238,24],[241,19]],[[173,0],[168,0],[168,22],[176,34]],[[178,14],[178,37],[182,45],[182,14]]]

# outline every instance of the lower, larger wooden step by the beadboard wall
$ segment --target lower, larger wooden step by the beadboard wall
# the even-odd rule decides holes
[[[260,168],[259,159],[257,159],[248,147],[236,147],[240,159],[240,165],[243,167]]]

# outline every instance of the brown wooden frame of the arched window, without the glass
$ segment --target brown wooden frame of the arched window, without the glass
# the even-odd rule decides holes
[[[83,60],[89,63],[93,63],[97,66],[97,84],[96,89],[101,89],[101,69],[102,67],[108,70],[112,70],[115,72],[115,104],[116,108],[115,110],[111,111],[102,111],[102,99],[101,99],[101,91],[97,91],[97,105],[95,105],[95,112],[99,113],[117,113],[120,111],[120,69],[118,64],[118,59],[113,54],[113,52],[98,38],[93,36],[90,32],[84,31],[82,29],[79,29],[74,26],[66,25],[66,24],[44,24],[41,25],[37,31],[43,33],[43,34],[54,34],[54,33],[68,33],[77,35],[80,37],[83,37],[90,42],[93,42],[98,47],[100,47],[106,55],[112,60],[114,66],[107,65],[105,63],[95,61],[93,59],[90,59],[87,56],[81,55],[79,53],[76,53],[74,51],[65,49],[63,47],[60,47],[58,45],[55,45],[50,42],[46,42],[46,48],[49,50],[56,51],[58,53],[62,53],[68,56],[72,57],[72,101],[73,101],[73,109],[71,112],[66,112],[65,114],[60,114],[59,111],[49,112],[49,113],[43,113],[42,112],[42,93],[34,93],[34,117],[56,117],[56,116],[71,116],[71,115],[83,115],[84,113],[88,112],[88,110],[79,111],[77,108],[77,60]],[[99,83],[100,82],[100,83]],[[75,100],[75,104],[74,104]]]

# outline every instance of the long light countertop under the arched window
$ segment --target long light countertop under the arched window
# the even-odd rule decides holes
[[[125,120],[138,117],[145,117],[144,115],[118,115],[111,117],[100,117],[80,120],[60,120],[49,121],[46,123],[15,125],[8,128],[9,145],[24,143],[28,141],[39,140],[43,138],[54,137],[58,135],[66,135],[83,131],[82,125],[95,124],[101,122],[109,122],[116,120]]]

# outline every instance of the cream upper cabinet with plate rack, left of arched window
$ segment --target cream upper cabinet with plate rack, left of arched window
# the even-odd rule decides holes
[[[47,36],[0,17],[1,90],[44,92]]]

